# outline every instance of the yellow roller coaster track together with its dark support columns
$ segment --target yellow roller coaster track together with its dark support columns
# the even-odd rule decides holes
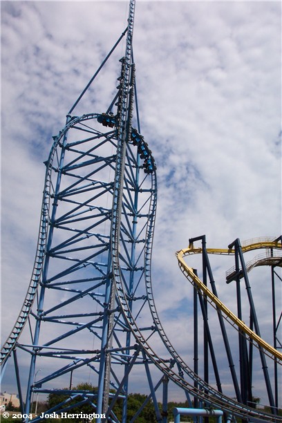
[[[202,241],[201,247],[194,247],[194,242]],[[245,263],[244,252],[250,252],[253,250],[265,249],[265,254],[259,254],[254,257],[252,261]],[[192,267],[189,267],[185,263],[184,257],[201,254],[203,261],[203,281],[198,278],[197,271]],[[220,255],[234,255],[235,265],[226,272],[226,282],[231,283],[236,281],[236,305],[237,314],[235,315],[229,308],[223,304],[218,298],[218,292],[214,276],[212,274],[212,267],[209,262],[209,254],[220,254]],[[218,321],[220,325],[220,331],[223,338],[223,344],[227,354],[227,361],[230,368],[230,375],[234,385],[234,391],[238,402],[243,404],[253,404],[253,393],[252,393],[252,377],[254,373],[254,346],[259,348],[259,355],[261,359],[261,367],[263,370],[263,379],[265,381],[265,388],[267,391],[268,400],[272,413],[276,414],[279,407],[279,373],[278,365],[281,365],[282,354],[279,349],[282,348],[281,339],[279,338],[279,328],[281,325],[281,313],[276,314],[276,283],[275,279],[281,282],[281,277],[276,272],[275,267],[281,267],[282,255],[281,255],[281,236],[279,238],[257,238],[251,241],[245,241],[241,246],[240,240],[237,238],[233,243],[228,245],[228,249],[212,249],[206,247],[205,236],[199,236],[197,238],[191,238],[189,240],[189,247],[184,250],[180,250],[176,253],[178,257],[178,264],[180,269],[185,274],[187,279],[194,285],[194,371],[198,373],[198,303],[197,296],[200,303],[200,309],[203,315],[204,321],[204,379],[205,382],[209,382],[209,356],[212,361],[212,367],[214,370],[214,377],[216,379],[216,386],[218,391],[222,392],[220,375],[218,364],[216,361],[216,355],[214,353],[214,344],[212,341],[212,334],[210,332],[208,323],[208,308],[207,304],[211,304],[217,311]],[[252,290],[250,286],[248,272],[256,266],[268,265],[271,267],[271,291],[272,291],[272,339],[273,346],[267,344],[261,338],[261,332],[259,328],[259,319],[256,315],[256,308],[254,306],[254,299],[252,296]],[[276,276],[276,278],[275,278]],[[208,287],[208,281],[210,288]],[[242,294],[241,285],[245,283],[247,292],[247,301],[250,307],[250,323],[247,326],[243,322],[242,314]],[[229,345],[229,339],[227,336],[227,330],[225,328],[225,321],[238,330],[238,354],[239,354],[239,377],[238,380],[234,359],[232,357],[232,349]],[[267,357],[274,361],[272,364],[273,371],[273,384],[270,382],[270,373],[267,366]],[[195,384],[195,386],[197,386]],[[273,388],[272,388],[273,387]]]

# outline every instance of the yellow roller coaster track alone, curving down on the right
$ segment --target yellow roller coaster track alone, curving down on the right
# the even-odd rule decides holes
[[[256,240],[250,240],[243,243],[242,252],[259,250],[261,248],[281,249],[282,245],[281,245],[281,242],[270,241],[269,238],[258,238]],[[235,250],[233,249],[220,250],[215,248],[207,248],[206,251],[208,254],[231,255],[235,253]],[[282,354],[279,353],[279,351],[273,348],[270,344],[267,344],[267,342],[265,342],[261,337],[256,335],[256,333],[253,330],[251,330],[241,319],[238,319],[238,317],[236,317],[236,315],[231,310],[229,310],[229,308],[227,308],[220,301],[220,299],[218,299],[218,297],[216,297],[216,295],[214,295],[209,290],[209,288],[207,288],[207,286],[198,278],[198,276],[196,276],[193,268],[189,267],[187,263],[185,263],[184,261],[185,256],[188,256],[190,254],[201,254],[202,252],[203,252],[202,248],[198,248],[198,247],[194,248],[194,245],[192,243],[189,245],[188,248],[185,248],[183,250],[176,252],[178,265],[180,269],[182,270],[182,273],[185,274],[185,276],[191,283],[196,284],[198,291],[200,291],[203,295],[207,296],[209,299],[209,302],[212,303],[212,305],[215,308],[221,310],[221,312],[225,314],[225,319],[227,319],[227,321],[232,321],[232,323],[234,323],[235,327],[238,330],[242,330],[242,332],[244,332],[245,335],[247,335],[247,337],[252,339],[252,341],[254,341],[254,343],[257,344],[259,348],[263,348],[263,350],[265,350],[265,353],[267,353],[267,355],[272,357],[272,359],[276,359],[279,362],[279,364],[282,364]]]

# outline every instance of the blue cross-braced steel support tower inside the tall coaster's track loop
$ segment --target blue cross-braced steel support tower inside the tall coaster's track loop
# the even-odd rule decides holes
[[[63,375],[70,374],[73,375],[75,369],[81,368],[82,366],[89,366],[98,375],[98,391],[97,391],[97,412],[101,413],[107,409],[107,402],[109,401],[109,387],[120,388],[120,397],[126,398],[127,393],[127,379],[130,373],[131,367],[138,359],[136,352],[132,355],[131,351],[135,350],[131,346],[131,336],[130,330],[126,325],[126,322],[123,321],[122,314],[118,306],[115,306],[115,283],[113,279],[112,265],[113,262],[117,260],[120,250],[124,251],[124,254],[121,256],[121,259],[124,263],[128,262],[126,266],[129,266],[128,270],[124,268],[123,272],[129,272],[129,278],[124,278],[124,281],[128,279],[129,283],[127,285],[128,295],[131,297],[130,300],[130,312],[132,313],[133,302],[136,301],[142,303],[142,306],[139,306],[140,311],[142,310],[145,303],[147,303],[146,297],[144,294],[141,296],[136,296],[138,292],[138,286],[134,282],[136,274],[141,273],[141,276],[138,276],[138,283],[142,275],[144,275],[143,265],[136,266],[140,262],[140,252],[144,251],[142,244],[146,242],[144,236],[146,229],[146,221],[149,218],[148,212],[146,212],[146,204],[151,204],[148,199],[152,195],[156,195],[156,185],[147,184],[148,177],[150,173],[155,171],[155,167],[152,165],[153,158],[151,158],[151,151],[148,151],[147,144],[144,142],[144,138],[139,135],[138,131],[134,131],[135,135],[138,136],[138,148],[142,151],[147,152],[147,157],[151,160],[149,164],[144,162],[144,176],[142,176],[141,182],[140,179],[140,169],[143,167],[141,164],[142,159],[138,153],[138,149],[131,152],[131,118],[132,118],[132,107],[133,107],[133,85],[134,85],[134,69],[131,65],[131,41],[132,41],[132,32],[133,32],[133,12],[134,12],[134,1],[131,1],[130,13],[129,13],[129,28],[127,32],[127,41],[126,41],[126,56],[122,59],[122,88],[118,98],[120,102],[118,104],[118,113],[113,116],[111,114],[94,114],[94,115],[83,115],[80,118],[74,118],[71,115],[67,116],[66,126],[59,133],[57,137],[54,137],[53,149],[50,153],[50,158],[46,162],[46,198],[53,198],[53,208],[50,213],[50,227],[48,228],[48,238],[44,238],[44,243],[42,247],[45,249],[44,264],[41,264],[40,272],[42,274],[41,278],[41,288],[39,294],[39,307],[37,312],[37,321],[35,325],[35,335],[33,339],[33,346],[30,349],[31,364],[30,364],[30,376],[28,382],[28,393],[26,400],[26,411],[29,411],[29,404],[31,400],[32,392],[47,392],[44,388],[44,384],[52,381],[54,378],[62,377]],[[129,90],[129,84],[132,84],[131,91]],[[81,96],[82,97],[82,96]],[[73,109],[71,109],[73,110]],[[101,133],[90,126],[91,124],[86,124],[86,121],[97,120],[99,124],[103,126],[109,126],[109,128],[114,128],[113,131],[108,133]],[[88,133],[88,138],[82,138],[80,140],[73,140],[71,138],[68,141],[68,136],[73,129],[77,131],[85,131]],[[89,135],[90,134],[90,135]],[[97,142],[97,147],[91,147],[90,149],[81,149],[81,146],[85,146],[86,143]],[[110,143],[112,149],[116,149],[116,154],[102,157],[95,153],[96,149],[104,146],[106,143]],[[131,144],[133,145],[133,144]],[[80,148],[79,148],[80,147]],[[73,158],[70,159],[68,156],[73,155]],[[142,157],[144,159],[144,157]],[[57,160],[57,164],[56,161]],[[96,171],[91,173],[85,173],[84,169],[88,169],[89,166],[98,166]],[[104,168],[109,168],[109,171],[113,174],[113,182],[104,182],[102,180],[93,180],[92,176],[101,173]],[[147,170],[147,171],[146,171]],[[55,178],[55,183],[51,180],[51,171],[55,176],[57,173],[57,178]],[[79,172],[79,173],[78,173]],[[99,174],[98,173],[98,174]],[[74,178],[74,182],[71,182],[71,178]],[[67,180],[67,184],[65,180]],[[90,182],[89,182],[90,181]],[[48,185],[47,185],[48,182]],[[142,185],[142,201],[140,201],[140,206],[138,203],[138,195],[140,192],[139,185]],[[54,187],[54,189],[53,189]],[[53,189],[53,191],[52,191]],[[101,191],[96,196],[93,196],[92,191]],[[125,190],[125,196],[123,191]],[[131,195],[131,191],[133,194]],[[92,197],[86,201],[79,200],[79,196],[84,193],[89,193],[87,195]],[[111,196],[112,207],[111,212],[108,207],[92,205],[94,199],[102,198],[103,195]],[[145,197],[144,197],[145,196]],[[132,198],[131,198],[132,197]],[[46,202],[49,204],[48,202]],[[66,210],[62,212],[62,204],[65,206]],[[44,203],[45,205],[45,203]],[[142,209],[142,214],[138,210],[138,207]],[[130,210],[133,212],[133,225],[131,227]],[[155,209],[156,210],[156,209]],[[84,221],[93,220],[93,216],[89,216],[91,212],[95,212],[97,216],[97,222],[92,225],[86,226],[85,228],[79,229]],[[58,213],[59,212],[59,213]],[[151,213],[151,212],[150,212]],[[44,213],[46,220],[48,220],[48,210],[47,213]],[[153,214],[151,217],[154,219]],[[100,218],[100,219],[99,219]],[[122,221],[124,220],[124,223]],[[141,229],[137,229],[138,221],[143,220]],[[154,221],[154,220],[153,220]],[[75,227],[71,225],[75,223]],[[79,226],[80,225],[80,226]],[[109,227],[109,235],[104,234],[103,232],[95,232],[93,234],[93,229],[97,226],[107,225]],[[111,227],[111,228],[110,228]],[[131,229],[130,229],[131,227]],[[152,229],[149,229],[151,232]],[[70,236],[64,238],[64,236],[58,236],[58,232],[64,231],[66,233],[70,232]],[[72,235],[73,234],[73,235]],[[130,243],[128,247],[128,241],[126,238],[129,236]],[[95,238],[97,240],[97,245],[84,245],[85,241],[88,238]],[[56,238],[62,238],[59,242]],[[136,245],[138,245],[138,256],[136,257]],[[141,245],[141,247],[139,247]],[[97,251],[95,254],[86,256],[84,259],[78,258],[79,255],[85,254],[87,251],[91,252]],[[77,254],[77,259],[71,257],[70,254]],[[103,262],[93,262],[91,260],[95,257],[104,254],[106,258]],[[128,257],[128,259],[126,259]],[[69,261],[71,266],[66,266],[65,269],[51,270],[52,263],[60,259],[61,261]],[[151,257],[146,260],[145,267],[149,266],[151,262]],[[134,264],[136,263],[136,264]],[[102,274],[102,276],[76,276],[73,278],[73,274],[76,272],[83,272],[86,267],[89,266],[95,267],[95,269]],[[83,274],[83,273],[82,273]],[[71,279],[69,279],[71,276]],[[77,289],[77,284],[88,283],[90,286],[84,289]],[[126,283],[126,282],[125,282]],[[104,295],[96,292],[104,286],[105,293]],[[73,288],[72,288],[73,287]],[[60,303],[55,303],[53,306],[48,306],[46,310],[46,289],[48,290],[57,290],[59,292],[67,292],[71,294],[71,297],[64,299]],[[86,298],[91,296],[99,306],[103,308],[104,312],[62,312],[60,310],[68,308],[68,306],[73,306],[75,301],[79,299]],[[101,301],[99,296],[104,298]],[[46,298],[45,298],[46,297]],[[44,307],[45,306],[45,307]],[[45,308],[45,310],[44,310]],[[140,311],[138,314],[140,314]],[[55,314],[54,313],[59,313]],[[77,323],[75,321],[66,321],[66,319],[80,319],[82,317],[88,318],[88,323]],[[63,321],[65,319],[65,321]],[[53,337],[49,341],[45,341],[44,344],[41,344],[39,341],[39,334],[42,332],[42,326],[46,323],[60,323],[63,325],[74,326],[72,330],[66,330],[61,335]],[[97,323],[102,322],[101,335],[97,333]],[[96,329],[95,329],[96,326]],[[120,344],[119,336],[115,335],[116,327],[124,328],[126,330],[126,339],[124,347]],[[67,326],[66,326],[67,327]],[[79,335],[79,332],[82,330],[91,330],[98,339],[100,338],[101,347],[98,349],[100,353],[97,355],[97,363],[100,363],[100,368],[93,366],[93,359],[82,359],[82,357],[75,357],[77,353],[79,354],[91,354],[91,350],[79,350],[79,348],[66,348],[54,347],[56,344],[68,339],[73,335]],[[120,329],[119,329],[120,330]],[[151,330],[151,328],[150,328]],[[113,348],[113,337],[115,336],[115,342],[118,341],[118,348]],[[26,348],[26,347],[22,347]],[[26,348],[29,349],[28,347]],[[111,351],[111,353],[110,353]],[[115,354],[114,354],[115,353]],[[71,362],[66,366],[63,366],[50,375],[45,375],[41,378],[40,381],[37,381],[34,384],[33,379],[35,375],[35,366],[38,361],[38,357],[61,357],[65,360],[67,358],[71,359]],[[131,360],[131,364],[129,364]],[[124,375],[125,381],[122,384],[115,386],[113,382],[110,382],[111,377],[111,365],[112,361],[124,364]],[[116,377],[115,377],[116,379]],[[104,402],[104,404],[103,404]],[[126,404],[126,401],[124,401]],[[63,404],[61,404],[63,406]],[[71,409],[71,406],[64,407],[64,409]],[[113,405],[111,406],[113,408]],[[109,408],[110,409],[110,408]],[[57,410],[57,408],[56,408]],[[123,421],[126,420],[126,407],[124,408]],[[38,419],[37,419],[38,420]]]

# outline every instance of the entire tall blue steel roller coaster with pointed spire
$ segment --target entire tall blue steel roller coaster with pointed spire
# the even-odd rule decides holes
[[[218,389],[207,384],[207,354],[205,380],[201,379],[197,366],[191,370],[178,355],[160,322],[151,281],[156,163],[140,133],[132,51],[134,8],[131,0],[129,26],[120,37],[126,34],[118,93],[108,110],[71,115],[120,39],[71,108],[64,129],[54,137],[46,161],[35,266],[17,324],[2,350],[3,363],[16,344],[30,355],[26,413],[34,393],[58,393],[66,399],[49,413],[90,404],[96,413],[105,413],[108,421],[118,422],[115,404],[122,400],[120,421],[125,423],[129,377],[144,366],[149,394],[136,418],[153,400],[161,420],[156,391],[165,380],[165,411],[167,382],[171,380],[182,388],[189,406],[192,395],[203,406],[215,406],[238,417],[252,416],[253,421],[273,421],[272,416],[223,395],[219,378]],[[132,127],[134,100],[138,129]],[[207,283],[210,272],[206,264],[205,272]],[[37,308],[32,307],[36,292]],[[206,316],[207,303],[201,300]],[[19,335],[28,317],[33,319],[31,340],[21,344]],[[205,328],[209,329],[207,319]],[[196,329],[194,333],[196,336]],[[212,346],[212,336],[209,338]],[[165,346],[164,357],[152,349],[155,339]],[[15,366],[19,379],[17,360]],[[156,386],[151,366],[162,375]],[[38,368],[42,368],[41,379],[35,381]],[[72,390],[73,377],[79,373],[85,378],[86,370],[97,388]]]

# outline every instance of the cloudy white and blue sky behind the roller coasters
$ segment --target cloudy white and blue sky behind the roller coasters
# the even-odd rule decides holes
[[[2,342],[30,279],[51,137],[127,15],[127,1],[1,2]],[[138,1],[133,40],[141,129],[158,165],[156,304],[187,354],[191,287],[175,252],[202,234],[217,248],[281,234],[281,3]],[[106,109],[122,55],[124,43],[76,114]],[[233,262],[214,264],[232,305],[224,274]],[[253,279],[267,333],[270,272]]]

